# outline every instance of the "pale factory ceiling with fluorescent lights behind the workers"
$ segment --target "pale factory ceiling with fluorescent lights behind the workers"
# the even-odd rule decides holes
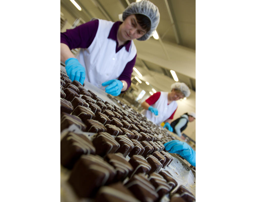
[[[60,0],[61,5],[74,18],[82,18],[85,22],[96,17],[118,21],[128,3],[135,0],[75,0],[82,8],[79,11],[70,0]],[[148,81],[150,86],[143,85],[145,90],[170,91],[175,83],[170,70],[174,70],[179,82],[186,83],[196,91],[196,0],[151,0],[159,9],[160,23],[157,33],[147,41],[134,40],[137,48],[135,67],[141,72],[133,76]],[[142,82],[142,83],[144,83]]]

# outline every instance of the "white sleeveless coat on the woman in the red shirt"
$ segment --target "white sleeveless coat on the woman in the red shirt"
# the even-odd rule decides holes
[[[160,126],[162,122],[167,120],[171,116],[171,114],[173,114],[173,112],[177,109],[178,104],[176,101],[172,101],[168,105],[168,92],[161,92],[159,99],[151,106],[158,110],[158,116],[156,116],[149,110],[145,110],[144,112],[142,112],[142,114],[144,114],[149,120]]]

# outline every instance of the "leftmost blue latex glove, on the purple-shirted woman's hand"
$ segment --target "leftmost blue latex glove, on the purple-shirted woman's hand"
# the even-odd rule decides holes
[[[85,67],[76,58],[69,58],[65,61],[66,72],[71,81],[79,81],[82,85],[85,81]]]

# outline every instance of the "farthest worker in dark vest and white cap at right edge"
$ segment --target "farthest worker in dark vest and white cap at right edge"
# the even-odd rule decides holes
[[[187,127],[188,122],[192,122],[196,119],[196,113],[188,112],[183,114],[180,118],[171,122],[171,127],[173,132],[176,133],[179,137],[182,137],[181,132],[184,131]]]

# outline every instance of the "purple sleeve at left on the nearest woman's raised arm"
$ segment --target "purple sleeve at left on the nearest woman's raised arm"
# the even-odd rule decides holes
[[[60,43],[65,43],[70,50],[76,48],[88,48],[96,36],[99,20],[87,22],[74,29],[67,29],[60,33]]]

